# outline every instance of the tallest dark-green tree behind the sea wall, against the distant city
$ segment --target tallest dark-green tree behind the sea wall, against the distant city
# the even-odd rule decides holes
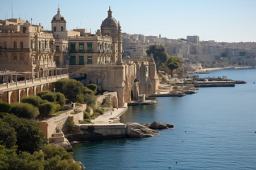
[[[159,69],[161,63],[165,63],[167,59],[166,48],[163,45],[150,45],[146,50],[148,56],[153,54],[156,62],[156,67]]]

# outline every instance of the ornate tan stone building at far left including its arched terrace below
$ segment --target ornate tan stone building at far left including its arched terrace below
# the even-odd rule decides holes
[[[40,24],[0,20],[0,101],[20,102],[68,78],[67,69],[56,67],[54,53],[55,39]]]

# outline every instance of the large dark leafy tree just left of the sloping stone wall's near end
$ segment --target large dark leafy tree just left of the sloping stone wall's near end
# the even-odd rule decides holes
[[[15,129],[17,139],[15,145],[18,146],[18,151],[32,154],[35,151],[40,151],[43,145],[47,143],[38,122],[8,113],[0,113],[0,118]]]

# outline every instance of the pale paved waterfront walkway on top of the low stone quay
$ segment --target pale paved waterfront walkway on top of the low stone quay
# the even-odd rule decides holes
[[[127,111],[127,103],[121,108],[114,108],[114,111],[108,111],[104,114],[98,116],[96,119],[92,120],[92,123],[95,124],[111,124],[113,122],[119,121],[119,116]]]

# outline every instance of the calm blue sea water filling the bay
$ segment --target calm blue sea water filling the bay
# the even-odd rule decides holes
[[[129,107],[122,122],[159,121],[175,129],[151,138],[73,145],[74,159],[86,169],[256,169],[256,69],[200,77],[223,75],[247,84],[200,88],[197,94]]]

